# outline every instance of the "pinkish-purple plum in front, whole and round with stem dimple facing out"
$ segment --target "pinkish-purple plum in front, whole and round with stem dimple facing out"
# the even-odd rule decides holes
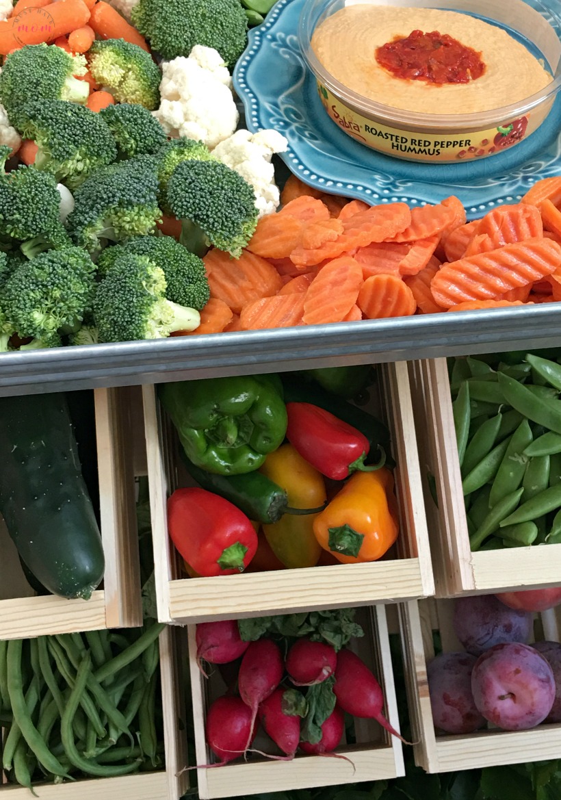
[[[500,644],[480,655],[471,673],[475,706],[503,730],[539,725],[555,700],[553,670],[534,647]]]

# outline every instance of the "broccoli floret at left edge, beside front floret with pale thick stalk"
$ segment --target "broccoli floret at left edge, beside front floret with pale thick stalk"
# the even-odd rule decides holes
[[[33,346],[56,347],[78,330],[94,298],[95,265],[79,247],[49,250],[17,266],[2,286],[6,317]]]

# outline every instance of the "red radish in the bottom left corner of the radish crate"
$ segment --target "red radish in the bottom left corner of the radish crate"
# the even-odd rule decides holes
[[[206,742],[226,764],[246,752],[255,736],[251,709],[238,697],[214,700],[206,714]],[[214,765],[213,765],[214,766]]]

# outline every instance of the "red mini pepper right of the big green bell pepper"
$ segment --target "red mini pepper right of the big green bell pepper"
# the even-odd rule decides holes
[[[386,461],[364,464],[370,442],[359,430],[335,417],[330,411],[309,402],[288,402],[287,438],[316,470],[327,478],[342,481],[356,470],[378,470]]]

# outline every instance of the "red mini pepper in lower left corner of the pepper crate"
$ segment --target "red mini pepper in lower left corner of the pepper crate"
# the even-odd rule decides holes
[[[167,501],[171,541],[199,575],[231,575],[245,570],[257,550],[250,519],[218,494],[190,487]]]

